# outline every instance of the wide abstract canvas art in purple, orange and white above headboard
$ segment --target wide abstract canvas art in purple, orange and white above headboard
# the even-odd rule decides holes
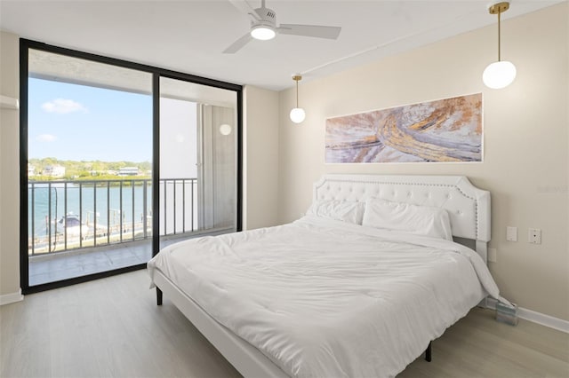
[[[482,161],[482,93],[328,118],[325,162]]]

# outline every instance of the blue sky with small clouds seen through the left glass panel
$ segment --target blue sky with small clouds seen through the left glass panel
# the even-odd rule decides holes
[[[28,158],[152,161],[152,97],[28,79]]]

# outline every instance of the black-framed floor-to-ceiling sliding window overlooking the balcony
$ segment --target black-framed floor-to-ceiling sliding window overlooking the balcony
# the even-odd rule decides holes
[[[241,87],[22,40],[24,292],[240,229]]]

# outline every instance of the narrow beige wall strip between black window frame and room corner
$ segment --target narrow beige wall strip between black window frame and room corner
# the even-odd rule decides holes
[[[244,88],[244,230],[278,222],[278,102],[275,91]]]

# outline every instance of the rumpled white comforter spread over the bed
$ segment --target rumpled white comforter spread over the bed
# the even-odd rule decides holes
[[[498,296],[469,248],[317,217],[182,241],[155,269],[299,377],[394,376]]]

